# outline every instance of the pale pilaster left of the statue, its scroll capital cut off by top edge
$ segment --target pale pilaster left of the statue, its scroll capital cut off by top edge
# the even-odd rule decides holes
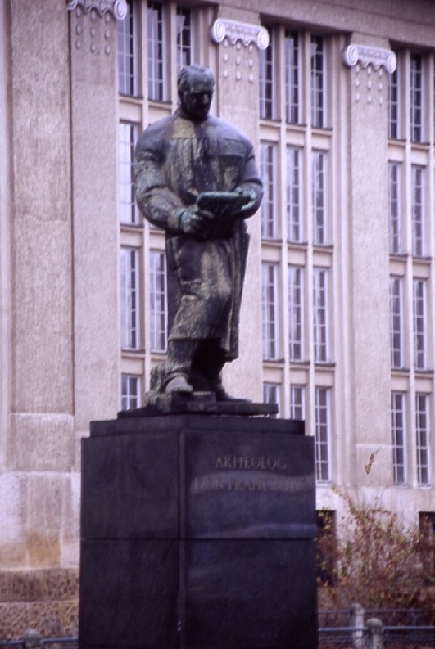
[[[87,434],[89,420],[113,416],[119,408],[115,16],[122,4],[68,4],[78,436]]]

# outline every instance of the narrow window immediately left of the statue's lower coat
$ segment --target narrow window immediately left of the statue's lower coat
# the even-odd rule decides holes
[[[167,347],[167,289],[165,253],[152,250],[151,262],[151,351],[165,352]]]

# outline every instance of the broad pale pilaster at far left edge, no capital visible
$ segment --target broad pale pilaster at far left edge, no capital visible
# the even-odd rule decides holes
[[[11,38],[11,346],[13,437],[31,457],[41,421],[60,417],[68,429],[56,438],[71,451],[73,412],[72,256],[68,30],[53,0],[10,2]],[[32,47],[23,47],[31,41]],[[52,62],[57,61],[53,66]],[[20,425],[22,416],[26,426]],[[45,426],[42,424],[42,428]],[[56,437],[56,433],[54,433]],[[43,450],[45,449],[45,450]],[[72,464],[72,456],[69,465]]]

